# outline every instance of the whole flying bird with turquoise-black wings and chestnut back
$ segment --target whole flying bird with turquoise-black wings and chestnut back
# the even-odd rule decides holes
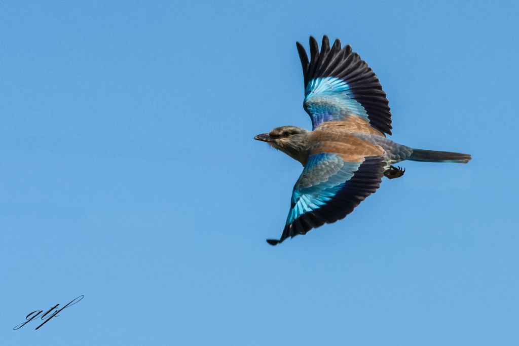
[[[415,149],[393,142],[391,112],[380,82],[359,54],[336,39],[330,48],[324,36],[321,51],[310,37],[310,59],[296,43],[303,66],[303,107],[312,121],[312,131],[282,126],[258,134],[267,142],[303,164],[292,192],[289,215],[276,245],[312,228],[331,224],[351,213],[380,186],[383,176],[401,177],[404,161],[467,163],[471,156],[448,151]]]

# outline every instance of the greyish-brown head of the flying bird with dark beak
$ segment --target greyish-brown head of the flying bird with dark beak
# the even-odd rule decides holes
[[[254,139],[267,142],[270,146],[283,151],[305,165],[308,156],[309,133],[310,131],[297,126],[281,126],[268,133],[258,134]]]

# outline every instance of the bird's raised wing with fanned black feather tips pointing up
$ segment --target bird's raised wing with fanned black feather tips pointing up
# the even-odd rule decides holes
[[[332,48],[324,36],[321,51],[310,37],[310,61],[305,48],[297,43],[305,77],[304,108],[313,129],[325,121],[342,121],[356,115],[380,132],[391,134],[391,112],[386,93],[377,76],[352,52],[348,45],[340,47],[339,39]]]

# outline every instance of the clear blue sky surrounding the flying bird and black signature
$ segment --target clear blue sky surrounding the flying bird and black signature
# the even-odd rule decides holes
[[[3,2],[4,345],[519,344],[516,2]],[[310,128],[295,41],[377,73],[404,162],[271,247]],[[34,310],[85,298],[38,330]]]

